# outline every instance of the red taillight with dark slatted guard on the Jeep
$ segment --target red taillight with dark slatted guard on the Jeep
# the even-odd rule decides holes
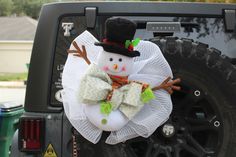
[[[19,150],[39,152],[44,146],[44,118],[22,117],[19,125]]]

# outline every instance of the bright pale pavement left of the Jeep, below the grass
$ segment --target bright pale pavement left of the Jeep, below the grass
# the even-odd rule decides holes
[[[24,104],[25,88],[0,88],[0,103],[6,101]]]

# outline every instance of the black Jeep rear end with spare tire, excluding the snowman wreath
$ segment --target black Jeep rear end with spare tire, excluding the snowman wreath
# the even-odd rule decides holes
[[[136,36],[157,44],[181,91],[169,120],[149,138],[117,145],[85,140],[63,112],[60,91],[66,50],[85,30],[103,39],[112,16],[137,23]],[[44,5],[30,62],[25,113],[11,156],[235,157],[236,5],[83,2]],[[172,131],[163,129],[174,128]]]

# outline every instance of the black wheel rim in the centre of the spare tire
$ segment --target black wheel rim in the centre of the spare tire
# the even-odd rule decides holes
[[[169,120],[151,137],[138,137],[123,144],[132,157],[214,157],[223,141],[223,121],[213,96],[183,81],[172,95]],[[189,88],[191,87],[191,88]]]

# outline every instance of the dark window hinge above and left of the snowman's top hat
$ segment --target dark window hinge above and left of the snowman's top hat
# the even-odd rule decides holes
[[[85,18],[87,28],[94,28],[96,25],[97,8],[96,7],[86,7],[85,8]]]

